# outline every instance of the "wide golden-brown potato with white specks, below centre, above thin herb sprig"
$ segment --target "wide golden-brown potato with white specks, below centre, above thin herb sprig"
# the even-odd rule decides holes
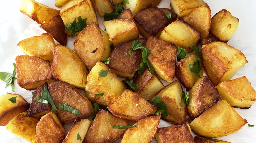
[[[114,116],[132,121],[139,121],[157,111],[156,106],[128,89],[124,90],[113,103],[110,103],[108,109]]]

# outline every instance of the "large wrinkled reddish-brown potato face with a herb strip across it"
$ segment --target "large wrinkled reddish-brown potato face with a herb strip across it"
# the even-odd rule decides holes
[[[93,114],[92,103],[72,85],[65,82],[56,81],[49,84],[48,88],[57,108],[56,115],[62,123],[69,123],[74,121],[76,117],[84,118]],[[59,103],[68,104],[69,106],[79,110],[81,115],[75,115],[59,109]]]

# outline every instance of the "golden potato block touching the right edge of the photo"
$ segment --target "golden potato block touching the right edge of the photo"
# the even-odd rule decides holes
[[[232,107],[247,109],[256,101],[256,92],[245,76],[221,82],[215,88]]]

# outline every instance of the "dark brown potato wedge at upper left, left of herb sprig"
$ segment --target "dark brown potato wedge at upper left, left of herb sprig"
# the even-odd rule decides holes
[[[60,15],[53,16],[49,21],[39,26],[47,33],[53,36],[53,38],[61,45],[67,45],[67,34],[65,33],[65,25]]]

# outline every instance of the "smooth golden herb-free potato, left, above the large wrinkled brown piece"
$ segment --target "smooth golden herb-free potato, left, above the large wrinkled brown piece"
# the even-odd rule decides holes
[[[55,45],[51,72],[54,78],[70,83],[74,87],[85,89],[89,71],[77,54],[62,45]]]

